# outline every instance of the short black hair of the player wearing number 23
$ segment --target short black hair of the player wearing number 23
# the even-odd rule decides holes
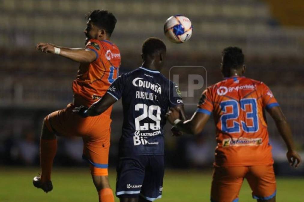
[[[244,65],[244,54],[241,48],[229,46],[222,52],[223,67],[239,69]]]

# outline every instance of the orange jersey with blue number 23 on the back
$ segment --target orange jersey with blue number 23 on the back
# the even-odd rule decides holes
[[[203,93],[197,112],[211,114],[216,125],[217,166],[254,166],[273,163],[265,108],[278,106],[260,81],[230,77]]]

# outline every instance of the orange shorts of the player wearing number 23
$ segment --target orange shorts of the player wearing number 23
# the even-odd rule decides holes
[[[254,199],[275,197],[276,181],[272,165],[215,167],[212,177],[212,202],[237,202],[244,178],[247,179]]]

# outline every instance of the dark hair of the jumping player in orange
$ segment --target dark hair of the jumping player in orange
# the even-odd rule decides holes
[[[92,10],[85,17],[98,28],[104,29],[109,36],[111,36],[117,22],[113,13],[107,10]]]

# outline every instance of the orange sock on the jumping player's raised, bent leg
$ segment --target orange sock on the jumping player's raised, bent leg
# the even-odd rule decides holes
[[[53,160],[57,151],[57,140],[40,139],[41,182],[51,180]]]

